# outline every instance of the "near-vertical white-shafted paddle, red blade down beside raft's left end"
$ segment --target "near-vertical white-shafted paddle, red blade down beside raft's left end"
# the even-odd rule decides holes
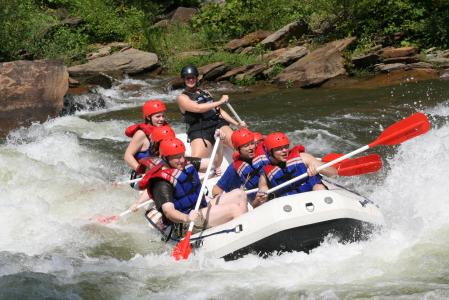
[[[212,154],[209,159],[209,164],[207,165],[206,173],[204,174],[204,180],[203,180],[203,183],[201,184],[200,193],[198,194],[198,198],[196,200],[196,204],[195,204],[195,208],[194,208],[194,210],[196,210],[196,211],[198,211],[198,209],[200,208],[201,199],[203,199],[204,189],[206,188],[206,183],[207,183],[207,180],[209,179],[209,174],[212,169],[212,164],[214,162],[215,154],[217,153],[219,144],[220,144],[220,138],[215,137],[214,148],[212,150]],[[176,260],[180,260],[181,258],[183,258],[183,259],[189,258],[190,252],[192,251],[192,247],[190,246],[190,236],[192,235],[193,225],[194,225],[194,222],[193,221],[190,222],[189,229],[187,230],[187,234],[175,246],[175,248],[173,248],[172,256]]]

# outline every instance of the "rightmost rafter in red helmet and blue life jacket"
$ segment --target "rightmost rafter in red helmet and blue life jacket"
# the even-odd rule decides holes
[[[289,149],[290,141],[285,133],[275,132],[267,135],[264,145],[268,151],[270,163],[263,168],[263,173],[259,179],[259,191],[253,201],[253,206],[259,206],[268,200],[266,191],[269,188],[280,185],[303,173],[307,173],[309,177],[276,191],[272,196],[282,197],[326,189],[326,186],[321,183],[321,176],[316,171],[324,163],[305,153],[302,146]],[[328,167],[321,173],[326,176],[335,176],[337,170],[334,167]]]

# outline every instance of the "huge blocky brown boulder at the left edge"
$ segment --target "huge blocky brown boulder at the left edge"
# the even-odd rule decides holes
[[[0,133],[57,116],[68,88],[60,60],[0,63]]]

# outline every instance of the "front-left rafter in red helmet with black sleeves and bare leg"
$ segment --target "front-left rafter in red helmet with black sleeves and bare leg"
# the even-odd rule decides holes
[[[224,138],[224,135],[220,137]],[[161,163],[147,172],[139,183],[141,189],[147,189],[152,195],[157,210],[164,216],[164,223],[167,226],[181,224],[183,227],[183,224],[193,221],[197,229],[205,229],[245,213],[246,195],[241,190],[214,198],[209,203],[203,198],[199,211],[193,210],[201,189],[198,171],[206,170],[209,159],[187,158],[185,150],[183,142],[177,138],[163,140],[160,144]],[[218,152],[222,150],[220,143]],[[221,159],[217,155],[214,165],[220,164]]]

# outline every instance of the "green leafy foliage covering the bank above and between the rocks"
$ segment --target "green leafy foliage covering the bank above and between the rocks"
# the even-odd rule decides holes
[[[0,61],[63,58],[82,61],[90,44],[126,41],[156,52],[170,72],[191,61],[257,62],[257,55],[220,51],[231,38],[256,30],[277,30],[297,20],[309,25],[311,47],[357,36],[355,54],[382,44],[449,47],[449,0],[227,0],[204,4],[191,24],[156,29],[156,16],[198,0],[0,0]],[[61,12],[79,17],[64,25]],[[300,38],[300,37],[299,37]],[[290,40],[297,44],[296,38]],[[310,47],[309,47],[310,48]],[[218,50],[217,50],[218,49]],[[212,50],[206,57],[180,59],[183,51]],[[257,48],[262,54],[265,49]],[[276,67],[277,68],[277,67]],[[274,68],[273,70],[277,70]]]

